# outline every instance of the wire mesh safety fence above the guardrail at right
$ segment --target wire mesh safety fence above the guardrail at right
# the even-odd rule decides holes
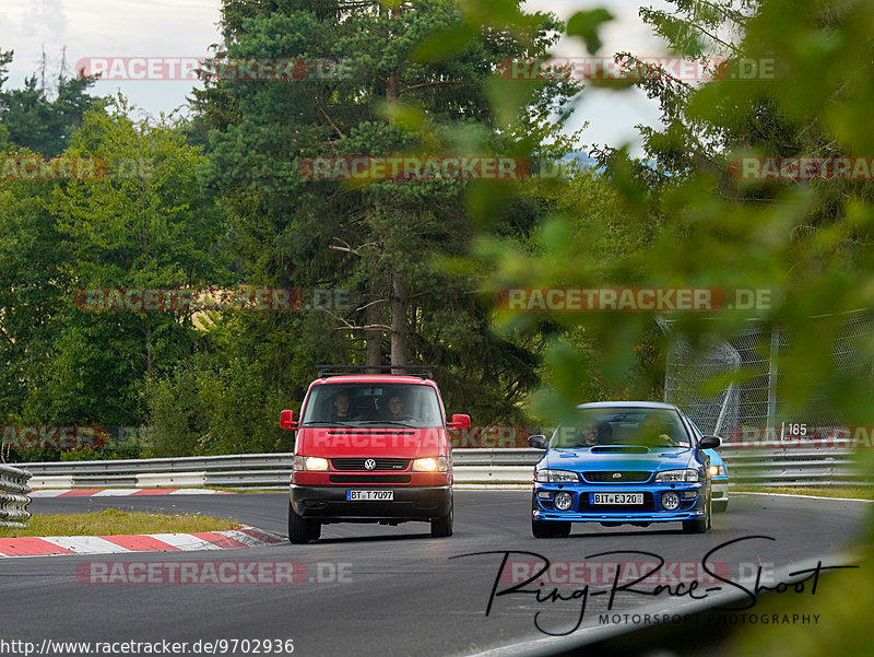
[[[673,335],[673,321],[660,325],[669,337]],[[812,317],[805,331],[805,344],[814,342],[827,350],[825,361],[817,362],[830,368],[832,380],[871,395],[874,367],[865,349],[874,339],[871,312]],[[705,434],[728,442],[846,438],[853,427],[841,425],[816,372],[799,372],[798,365],[791,373],[787,371],[784,363],[793,355],[794,341],[789,332],[755,320],[730,337],[708,336],[702,349],[674,337],[668,352],[664,400],[686,411]],[[739,374],[735,383],[714,389],[714,382]],[[800,402],[788,403],[790,388],[795,401],[800,395]]]

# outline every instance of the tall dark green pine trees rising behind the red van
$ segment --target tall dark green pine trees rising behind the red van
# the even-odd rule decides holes
[[[489,104],[496,67],[511,57],[544,55],[559,24],[522,14],[518,2],[445,0],[393,8],[338,2],[330,12],[306,2],[269,8],[226,2],[223,16],[222,55],[295,54],[304,61],[340,61],[350,72],[295,84],[218,80],[196,93],[200,115],[212,126],[210,180],[232,209],[231,248],[240,274],[260,284],[354,290],[358,303],[304,317],[218,318],[218,332],[246,330],[245,347],[218,339],[204,355],[211,371],[222,373],[215,377],[226,386],[222,389],[247,394],[252,384],[237,388],[238,377],[257,382],[261,373],[280,373],[276,387],[264,390],[257,406],[272,413],[267,400],[284,395],[293,406],[303,398],[314,374],[310,364],[427,362],[440,366],[451,410],[473,406],[479,421],[519,421],[521,400],[539,380],[539,340],[492,335],[488,309],[474,294],[475,279],[435,266],[463,253],[475,235],[464,208],[466,185],[312,183],[302,178],[298,162],[355,155],[560,156],[571,148],[560,130],[572,85],[525,89],[520,98],[530,112],[513,109],[508,117]],[[508,89],[525,86],[511,82]],[[558,122],[555,112],[564,113]],[[536,212],[516,195],[503,211],[491,208],[487,223],[512,232],[531,226]],[[237,355],[240,351],[246,355]],[[250,359],[245,361],[250,374],[236,372],[244,357]],[[222,397],[205,388],[199,396]],[[243,421],[239,411],[236,420],[232,413],[205,414],[211,436],[241,435],[234,424]],[[256,431],[261,445],[270,436],[281,439],[275,415],[265,418],[260,422],[269,424]]]

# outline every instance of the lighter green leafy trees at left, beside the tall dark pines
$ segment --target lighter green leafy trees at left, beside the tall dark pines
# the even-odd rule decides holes
[[[203,159],[170,124],[135,125],[123,102],[94,110],[64,152],[106,161],[108,177],[0,181],[0,396],[8,422],[139,425],[149,375],[200,340],[190,314],[94,313],[78,290],[226,282],[221,214]],[[26,153],[26,152],[24,152]],[[22,154],[24,154],[22,153]],[[133,163],[131,175],[119,162]]]

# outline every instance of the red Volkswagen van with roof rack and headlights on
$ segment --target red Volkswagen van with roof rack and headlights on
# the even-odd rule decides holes
[[[280,419],[280,426],[297,431],[288,540],[316,540],[330,523],[409,520],[430,523],[433,537],[451,536],[447,431],[470,429],[470,417],[447,422],[427,368],[323,367],[309,385],[299,422],[292,411]],[[404,374],[364,374],[374,369]]]

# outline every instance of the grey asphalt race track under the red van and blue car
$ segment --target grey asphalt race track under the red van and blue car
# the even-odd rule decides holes
[[[426,524],[333,525],[323,529],[322,540],[307,545],[5,559],[0,560],[0,640],[37,644],[45,638],[167,640],[191,645],[199,640],[270,638],[293,640],[294,654],[304,656],[471,655],[498,646],[515,646],[506,654],[522,654],[525,645],[532,645],[528,641],[546,636],[534,624],[539,611],[541,626],[552,633],[568,631],[579,621],[581,594],[567,601],[543,600],[554,586],[567,598],[583,590],[588,579],[574,579],[571,573],[597,578],[590,582],[580,627],[599,625],[599,615],[610,603],[612,579],[599,571],[574,571],[581,567],[579,562],[619,562],[626,568],[623,574],[630,576],[628,568],[660,555],[668,562],[662,573],[673,574],[657,584],[683,579],[683,590],[687,590],[692,579],[701,579],[701,571],[688,568],[697,568],[708,551],[735,539],[760,536],[773,540],[740,540],[721,548],[710,563],[732,579],[763,565],[767,582],[771,566],[805,562],[845,548],[859,536],[871,506],[851,501],[735,496],[729,513],[717,514],[713,529],[706,535],[684,535],[680,524],[662,528],[577,525],[569,538],[535,540],[529,527],[530,493],[457,491],[456,533],[448,539],[432,539]],[[201,512],[277,533],[286,531],[287,496],[283,494],[37,498],[31,509],[49,514],[106,507]],[[487,551],[496,553],[459,558]],[[528,572],[529,566],[517,564],[519,577],[513,580],[508,565],[506,577],[496,582],[505,551],[535,553],[510,554],[509,563],[545,556],[556,568],[551,571],[554,579],[541,587],[541,601],[533,594],[497,596],[486,615],[493,587],[495,593],[506,590]],[[593,556],[613,551],[624,552]],[[298,566],[303,562],[307,578],[295,585],[106,585],[76,577],[82,562],[244,560],[293,561]],[[577,565],[566,566],[565,562]],[[671,562],[682,564],[672,572]],[[708,582],[730,588],[704,577],[699,593]],[[640,589],[652,593],[654,584],[645,584]],[[682,593],[676,586],[673,589]],[[670,609],[688,601],[688,596],[670,593],[619,591],[612,611],[627,612],[652,603]]]

